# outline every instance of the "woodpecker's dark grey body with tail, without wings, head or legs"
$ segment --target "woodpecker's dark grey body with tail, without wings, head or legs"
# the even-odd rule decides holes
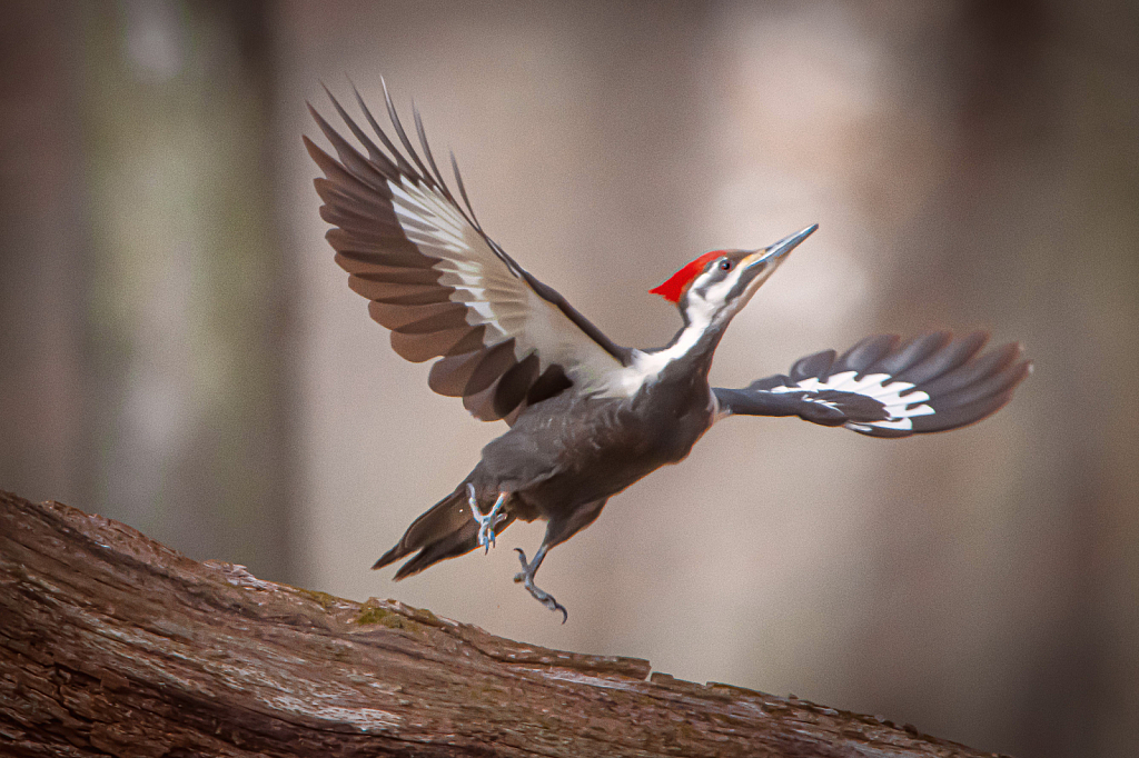
[[[396,578],[417,574],[478,546],[478,524],[467,503],[475,488],[482,510],[509,493],[497,529],[510,521],[548,521],[542,544],[552,547],[589,526],[605,502],[662,465],[678,463],[712,426],[715,401],[707,366],[669,365],[632,397],[565,392],[518,415],[456,487],[408,527],[377,567],[419,550]]]

